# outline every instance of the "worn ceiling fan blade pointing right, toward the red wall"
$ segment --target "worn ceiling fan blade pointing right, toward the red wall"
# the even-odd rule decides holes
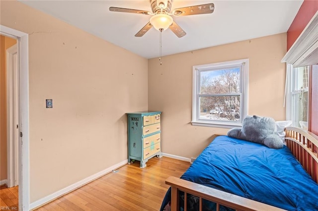
[[[207,14],[214,11],[214,3],[177,8],[172,11],[175,16]]]

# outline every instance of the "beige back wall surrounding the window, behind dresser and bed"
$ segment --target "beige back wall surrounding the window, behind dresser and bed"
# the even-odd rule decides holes
[[[162,151],[197,157],[213,134],[228,129],[192,126],[192,66],[249,58],[248,114],[285,119],[286,33],[148,61],[149,109],[162,111]]]

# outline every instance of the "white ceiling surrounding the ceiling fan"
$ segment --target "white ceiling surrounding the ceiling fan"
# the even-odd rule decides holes
[[[150,0],[21,0],[69,24],[145,58],[159,56],[159,31],[134,35],[150,15],[111,12],[110,6],[151,11]],[[162,55],[287,32],[303,0],[172,0],[175,8],[213,2],[212,14],[174,17],[187,33],[162,32]]]

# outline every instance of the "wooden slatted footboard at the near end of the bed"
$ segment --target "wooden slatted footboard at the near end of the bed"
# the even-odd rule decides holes
[[[179,192],[184,193],[184,211],[186,211],[186,197],[188,194],[199,197],[200,210],[202,211],[202,200],[206,199],[217,204],[217,211],[220,210],[220,205],[235,209],[237,211],[283,211],[270,205],[246,199],[234,194],[210,188],[204,185],[193,183],[184,179],[170,176],[165,180],[165,184],[171,186],[171,211],[179,211]]]

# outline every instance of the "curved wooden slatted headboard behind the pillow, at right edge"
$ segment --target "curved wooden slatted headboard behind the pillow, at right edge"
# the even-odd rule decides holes
[[[318,136],[298,127],[285,128],[287,147],[318,183]]]

